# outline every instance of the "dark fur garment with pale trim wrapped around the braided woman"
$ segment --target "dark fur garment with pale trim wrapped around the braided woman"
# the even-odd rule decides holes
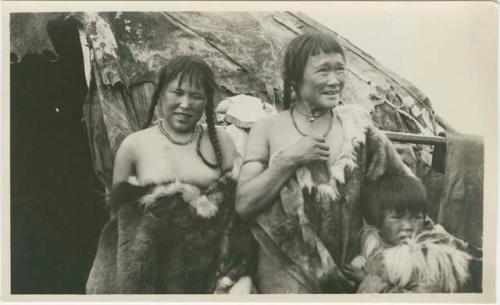
[[[234,187],[227,176],[206,190],[179,181],[118,184],[87,293],[221,293],[248,282],[256,245],[236,218]]]

